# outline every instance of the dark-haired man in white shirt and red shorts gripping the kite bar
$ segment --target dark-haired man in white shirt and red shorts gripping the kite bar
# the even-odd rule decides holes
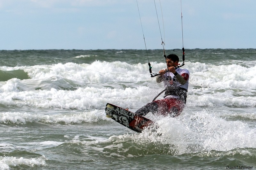
[[[160,70],[156,82],[164,82],[164,99],[154,100],[138,109],[135,113],[145,116],[149,112],[158,115],[176,117],[185,107],[188,92],[189,71],[177,68],[179,57],[170,54],[165,57],[167,69]],[[167,72],[167,71],[168,72]]]

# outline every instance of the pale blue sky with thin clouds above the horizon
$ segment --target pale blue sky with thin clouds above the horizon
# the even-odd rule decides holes
[[[255,6],[256,0],[0,0],[0,50],[256,48]]]

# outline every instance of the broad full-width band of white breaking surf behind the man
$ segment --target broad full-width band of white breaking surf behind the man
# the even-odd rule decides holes
[[[165,63],[151,65],[156,73],[165,68]],[[190,71],[187,106],[256,106],[256,66],[187,62],[184,68]],[[150,77],[147,63],[95,61],[15,69],[25,70],[31,79],[13,78],[2,82],[0,103],[4,105],[92,110],[103,109],[110,102],[136,109],[150,102],[163,89],[162,84]],[[74,90],[61,90],[59,86]],[[38,88],[42,90],[36,90]]]

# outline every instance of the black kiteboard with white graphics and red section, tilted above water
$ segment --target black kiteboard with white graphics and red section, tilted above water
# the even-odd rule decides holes
[[[138,133],[141,133],[143,129],[147,127],[152,126],[152,129],[156,129],[158,127],[155,122],[149,120],[148,118],[110,103],[107,103],[105,111],[108,118],[111,118]]]

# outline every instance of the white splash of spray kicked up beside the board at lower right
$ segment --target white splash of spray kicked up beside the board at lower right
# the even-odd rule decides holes
[[[152,119],[152,118],[151,118]],[[177,118],[164,117],[156,136],[148,131],[138,135],[137,142],[161,142],[175,147],[176,154],[205,151],[230,151],[236,148],[255,148],[256,128],[241,121],[227,121],[209,111],[193,112]],[[232,128],[230,128],[232,127]]]

